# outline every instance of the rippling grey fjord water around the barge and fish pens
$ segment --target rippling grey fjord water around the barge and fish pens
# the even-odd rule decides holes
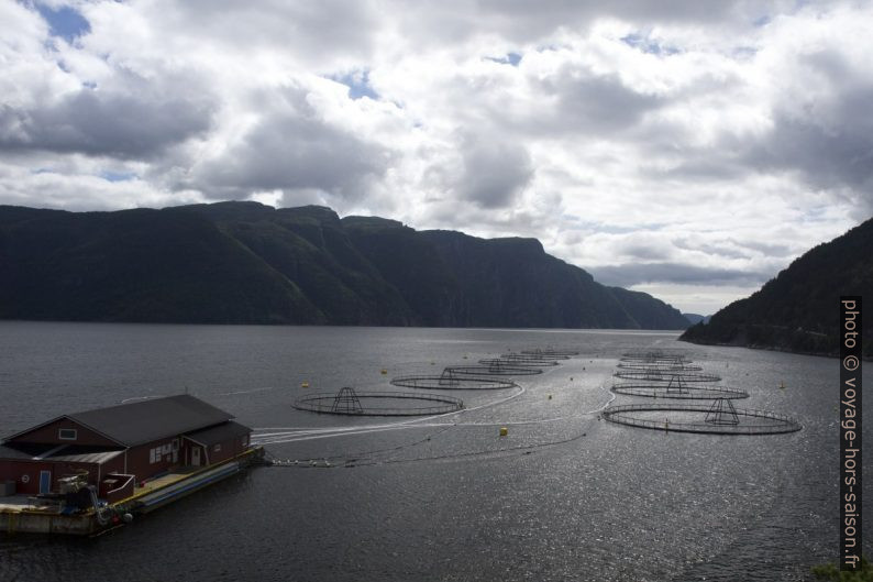
[[[0,578],[809,579],[838,543],[837,361],[676,336],[0,322],[4,436],[187,391],[255,427],[270,454],[303,461],[256,468],[96,539],[0,535]],[[310,392],[386,389],[395,374],[548,345],[582,355],[518,378],[521,388],[447,393],[467,408],[451,417],[400,425],[290,406]],[[644,348],[684,349],[751,394],[739,406],[789,414],[804,429],[679,435],[599,420],[618,356]],[[631,402],[643,400],[615,399]],[[356,430],[367,426],[378,428]],[[333,427],[351,430],[318,432]]]

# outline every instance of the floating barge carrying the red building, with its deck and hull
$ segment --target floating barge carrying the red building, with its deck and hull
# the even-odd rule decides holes
[[[261,462],[250,439],[189,395],[54,418],[0,443],[0,531],[102,534]]]

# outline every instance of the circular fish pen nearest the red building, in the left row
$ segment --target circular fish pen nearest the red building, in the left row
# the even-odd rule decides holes
[[[312,394],[294,403],[298,410],[345,416],[432,416],[456,413],[464,402],[454,396],[420,392],[356,392]]]

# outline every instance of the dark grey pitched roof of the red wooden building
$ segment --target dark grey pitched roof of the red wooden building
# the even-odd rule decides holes
[[[233,415],[188,394],[179,394],[64,415],[12,435],[7,440],[62,418],[69,418],[124,447],[135,447],[225,422]]]

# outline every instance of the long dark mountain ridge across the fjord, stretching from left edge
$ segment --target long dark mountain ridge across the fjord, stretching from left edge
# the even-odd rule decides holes
[[[416,231],[307,206],[0,206],[0,318],[684,329],[534,239]]]

